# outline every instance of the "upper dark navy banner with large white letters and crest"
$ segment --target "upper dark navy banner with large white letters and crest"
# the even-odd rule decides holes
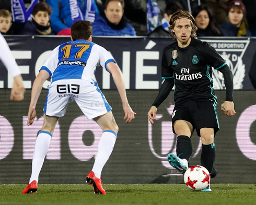
[[[11,51],[22,71],[26,88],[32,83],[45,59],[58,45],[69,41],[69,37],[43,37],[43,36],[5,36]],[[256,51],[255,38],[204,38],[226,60],[234,74],[234,89],[252,90],[249,79],[249,70],[253,65],[253,56]],[[126,89],[160,88],[161,55],[165,46],[172,43],[170,38],[93,38],[93,41],[105,47],[117,61],[123,71]],[[255,54],[256,56],[256,54]],[[192,59],[191,59],[192,60]],[[254,64],[256,60],[254,59]],[[8,75],[3,64],[0,63],[0,88],[11,88],[13,78]],[[110,74],[103,69],[96,70],[96,78],[101,89],[115,89]],[[213,70],[214,88],[224,89],[223,75]],[[44,84],[47,88],[50,81]],[[256,87],[256,85],[254,86]]]

